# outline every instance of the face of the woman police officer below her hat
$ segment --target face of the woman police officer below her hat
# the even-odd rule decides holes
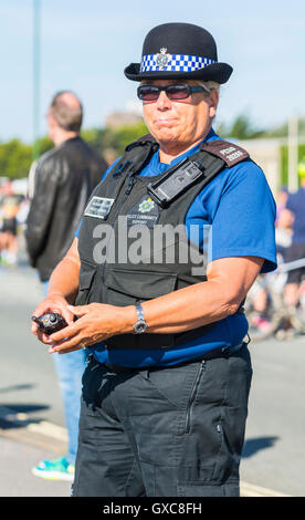
[[[198,85],[196,81],[155,80],[146,84],[167,86],[170,84]],[[157,101],[143,102],[145,122],[161,149],[187,149],[201,141],[210,131],[218,105],[218,92],[194,92],[186,100],[169,100],[161,91]]]

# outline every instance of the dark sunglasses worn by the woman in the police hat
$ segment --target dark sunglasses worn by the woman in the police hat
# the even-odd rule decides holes
[[[167,86],[140,85],[137,89],[137,95],[141,101],[157,101],[161,91],[165,91],[167,97],[172,101],[186,100],[192,92],[210,93],[209,89],[204,89],[203,86],[173,84]]]

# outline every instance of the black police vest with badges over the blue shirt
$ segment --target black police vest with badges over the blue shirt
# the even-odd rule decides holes
[[[196,196],[223,168],[249,159],[236,145],[213,141],[164,174],[140,177],[158,144],[151,136],[127,146],[93,191],[78,233],[76,305],[135,305],[207,281],[207,248],[187,236]],[[208,242],[209,230],[204,233]],[[239,311],[238,311],[239,312]],[[118,334],[108,349],[168,349],[203,335],[214,324],[178,334]]]

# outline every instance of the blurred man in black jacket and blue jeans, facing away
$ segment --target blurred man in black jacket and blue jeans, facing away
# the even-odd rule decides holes
[[[107,164],[80,136],[82,103],[70,91],[59,92],[49,106],[49,135],[55,147],[38,160],[27,219],[30,263],[36,268],[46,294],[53,269],[69,250],[88,196]],[[69,447],[64,457],[40,462],[33,472],[43,478],[71,480],[78,434],[81,377],[85,352],[53,356],[63,396]]]

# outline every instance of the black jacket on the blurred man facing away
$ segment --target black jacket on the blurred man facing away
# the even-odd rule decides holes
[[[106,168],[103,157],[81,137],[65,141],[39,159],[25,240],[30,263],[42,281],[69,250],[87,199]]]

